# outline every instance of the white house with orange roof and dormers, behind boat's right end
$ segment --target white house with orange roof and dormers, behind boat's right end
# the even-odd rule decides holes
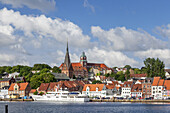
[[[88,95],[89,97],[105,97],[106,86],[105,84],[85,84],[82,94]]]

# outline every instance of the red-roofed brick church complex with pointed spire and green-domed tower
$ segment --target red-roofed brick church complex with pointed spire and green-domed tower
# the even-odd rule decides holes
[[[75,76],[76,78],[77,77],[88,78],[88,73],[91,68],[97,68],[100,70],[110,69],[105,64],[88,63],[85,52],[83,52],[82,55],[80,56],[79,62],[71,63],[70,56],[69,56],[68,42],[67,42],[64,63],[62,63],[59,68],[61,69],[61,73],[66,74],[70,78],[73,78],[73,76]]]

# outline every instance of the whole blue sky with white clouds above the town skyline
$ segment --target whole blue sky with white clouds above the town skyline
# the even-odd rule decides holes
[[[72,62],[170,68],[169,0],[0,0],[0,65]]]

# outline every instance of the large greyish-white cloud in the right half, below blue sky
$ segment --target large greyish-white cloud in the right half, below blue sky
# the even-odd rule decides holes
[[[105,31],[99,26],[92,26],[91,32],[100,40],[100,45],[106,49],[118,51],[140,51],[150,48],[165,48],[163,42],[145,31],[134,31],[125,27],[116,27]]]

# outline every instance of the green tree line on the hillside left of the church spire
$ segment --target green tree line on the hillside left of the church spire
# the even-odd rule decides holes
[[[36,73],[32,73],[32,71],[37,71]],[[55,76],[50,72],[61,73],[59,67],[54,66],[50,67],[47,64],[34,64],[33,67],[29,66],[1,66],[0,74],[3,75],[4,72],[7,73],[20,73],[19,77],[25,77],[26,81],[30,83],[33,89],[36,89],[40,86],[41,83],[49,83],[55,82]]]

